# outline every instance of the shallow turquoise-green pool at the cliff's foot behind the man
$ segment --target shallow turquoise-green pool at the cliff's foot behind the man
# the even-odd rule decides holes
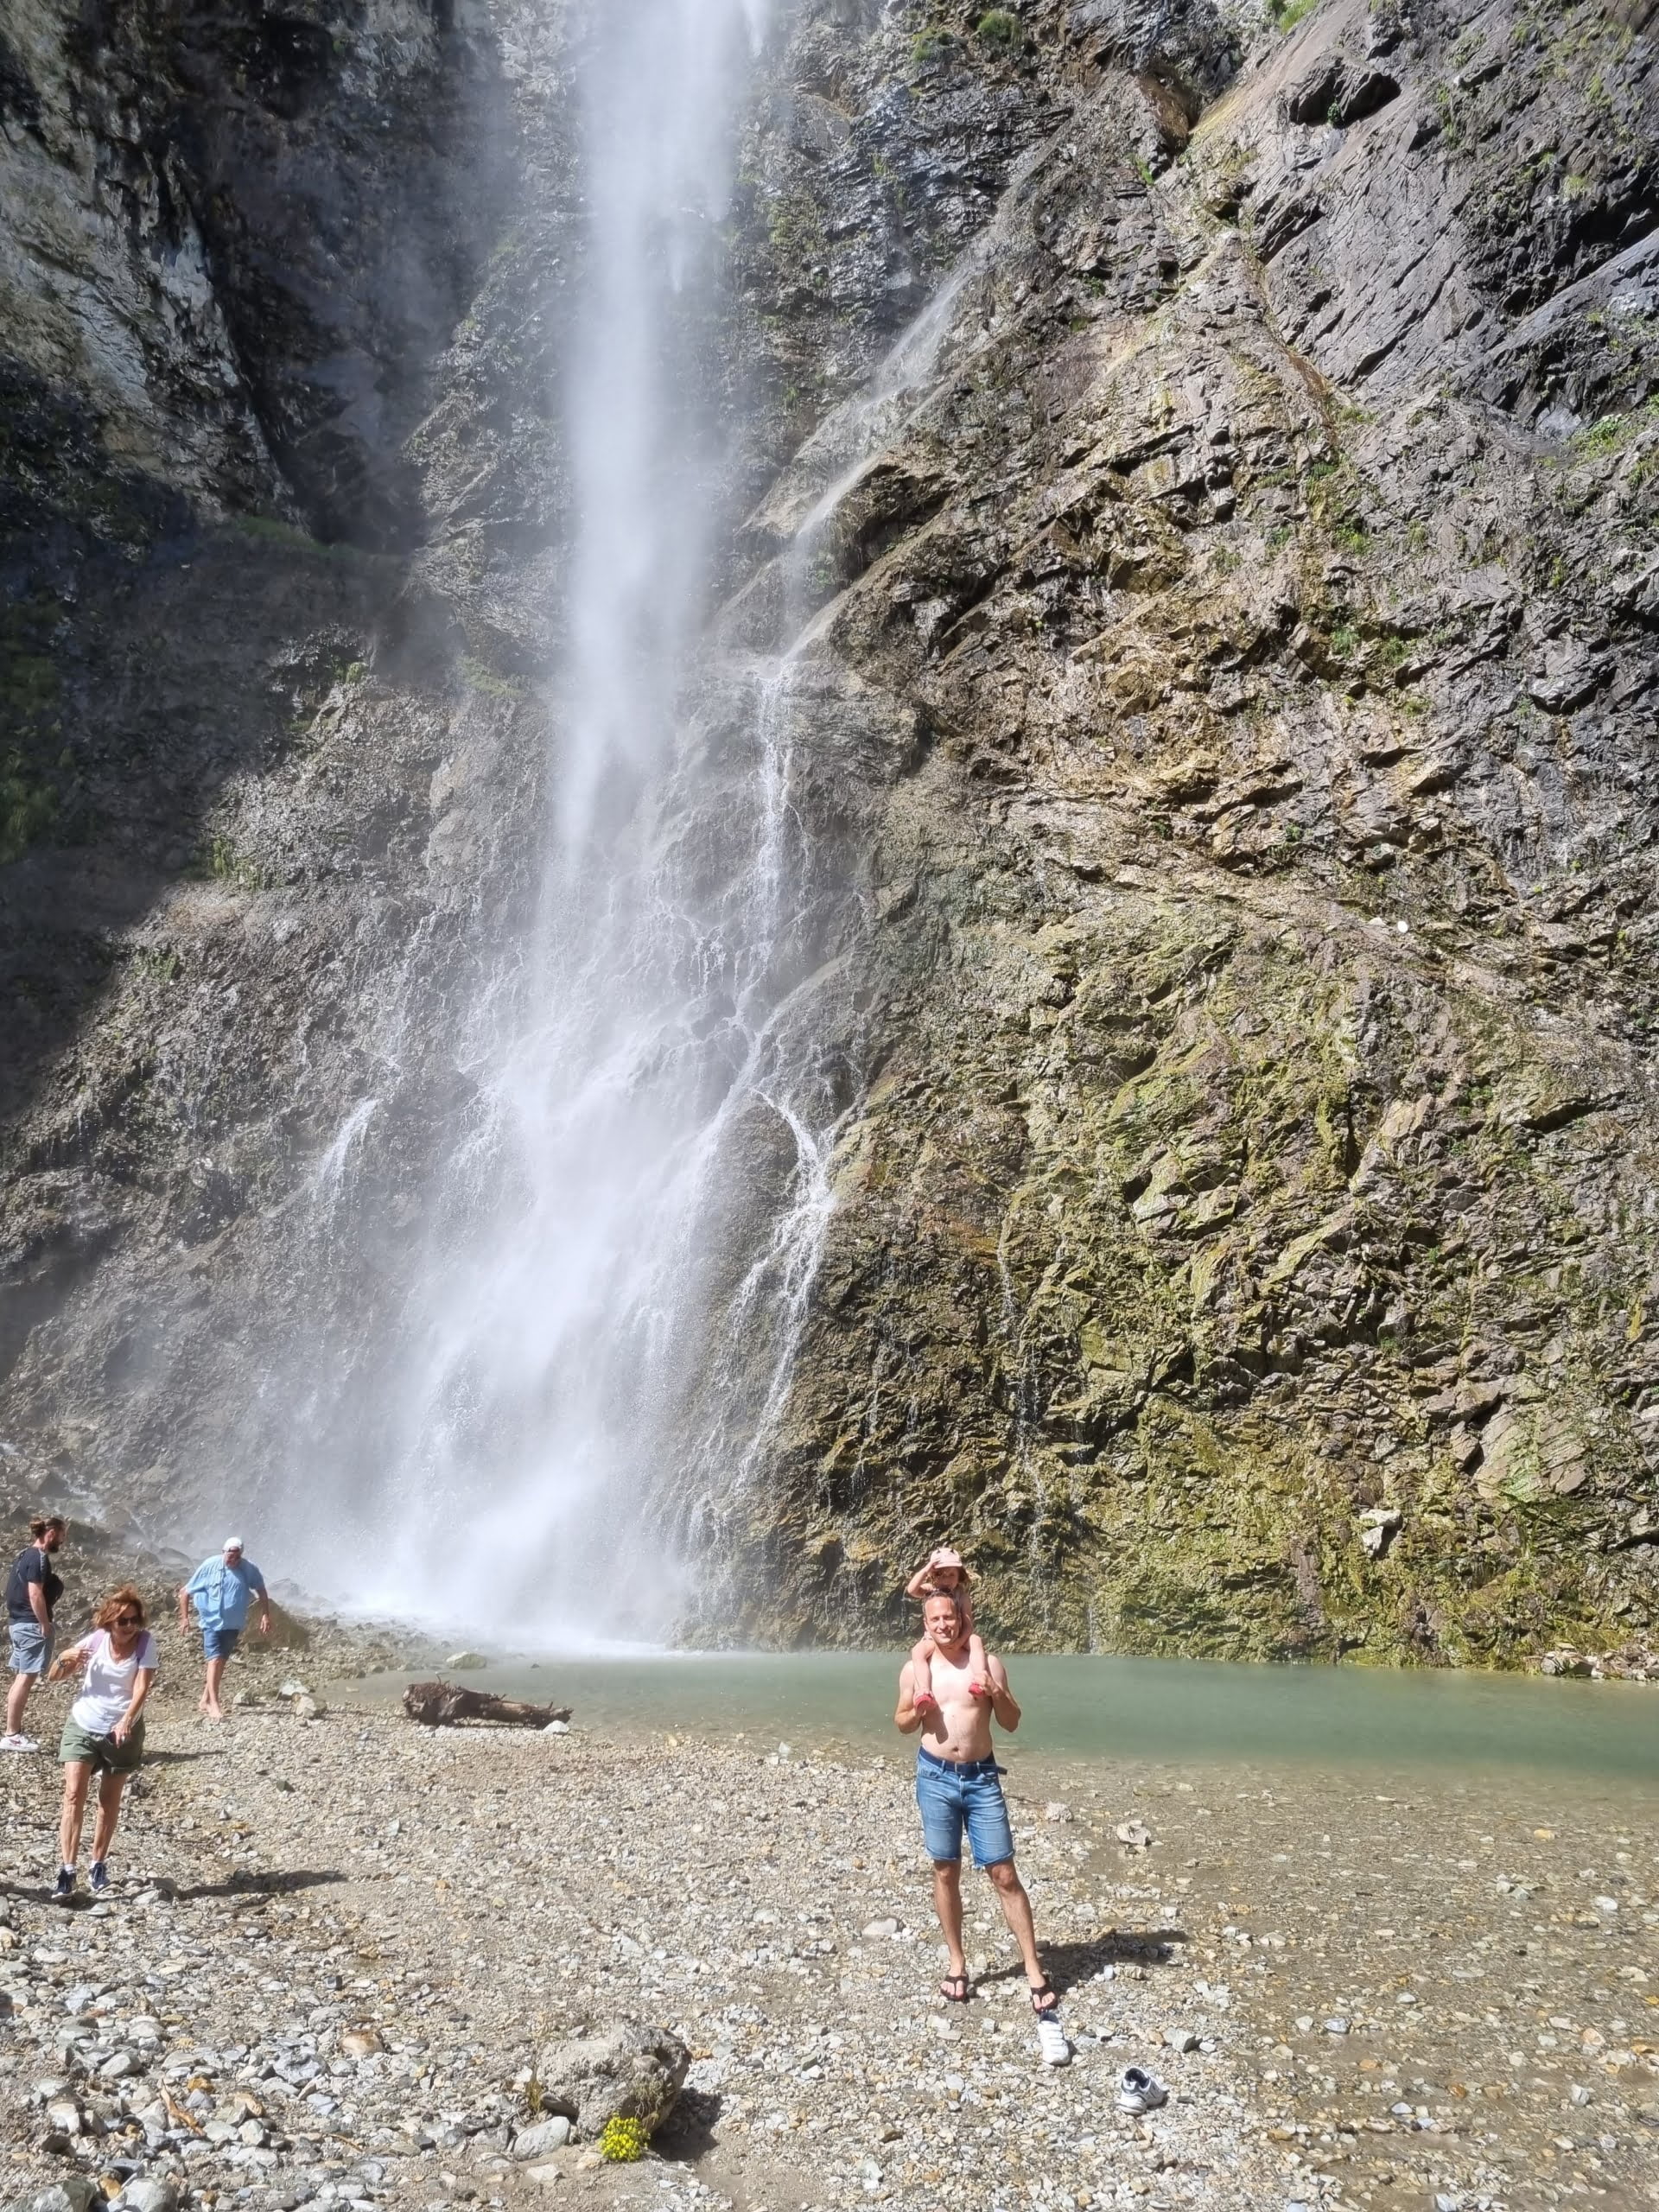
[[[546,1659],[449,1674],[571,1705],[575,1723],[675,1734],[774,1734],[796,1750],[905,1750],[896,1652]],[[1524,1770],[1659,1783],[1659,1686],[1194,1659],[1009,1657],[1024,1708],[1011,1759],[1133,1759],[1396,1774]],[[442,1672],[442,1670],[427,1670]],[[374,1703],[409,1674],[352,1686]]]

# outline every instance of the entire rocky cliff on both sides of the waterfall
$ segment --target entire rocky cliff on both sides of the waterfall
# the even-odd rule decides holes
[[[188,1520],[272,1343],[374,1367],[522,896],[564,31],[122,22],[0,55],[11,1440]],[[703,684],[816,608],[847,1117],[765,1475],[675,1489],[719,1626],[885,1635],[947,1531],[1024,1641],[1652,1626],[1644,31],[776,35]]]

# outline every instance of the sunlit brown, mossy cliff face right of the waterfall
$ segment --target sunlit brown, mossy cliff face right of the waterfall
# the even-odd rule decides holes
[[[1325,7],[1208,104],[1073,84],[821,529],[814,681],[916,739],[730,1610],[865,1635],[949,1533],[1026,1641],[1628,1641],[1659,429],[1579,272],[1646,49]]]

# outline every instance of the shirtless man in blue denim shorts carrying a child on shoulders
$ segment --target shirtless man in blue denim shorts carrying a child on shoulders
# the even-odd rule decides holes
[[[1020,1944],[1044,2057],[1051,2057],[1051,2042],[1064,2057],[1066,2042],[1053,2017],[1060,1997],[1048,1989],[1037,1958],[1031,1898],[1013,1865],[1013,1829],[991,1750],[991,1719],[995,1717],[1000,1728],[1013,1732],[1020,1725],[1020,1708],[1009,1690],[1006,1668],[995,1655],[987,1659],[989,1681],[973,1679],[969,1635],[953,1597],[929,1597],[922,1626],[931,1644],[929,1681],[918,1683],[916,1661],[905,1661],[898,1677],[894,1723],[905,1736],[914,1736],[918,1728],[927,1736],[916,1747],[916,1803],[922,1809],[927,1856],[933,1860],[933,1911],[949,1951],[949,1973],[940,1982],[940,1995],[951,2004],[969,2002],[969,1973],[962,1955],[962,1829],[967,1829],[973,1865],[984,1867],[991,1876],[1002,1918]],[[918,1690],[931,1692],[938,1705],[925,1714],[918,1712]]]

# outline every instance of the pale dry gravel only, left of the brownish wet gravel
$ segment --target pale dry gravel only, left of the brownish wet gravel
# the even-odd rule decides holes
[[[1285,2201],[1225,2000],[1175,1962],[1157,1902],[1126,1898],[1117,1931],[1066,1913],[1073,2066],[1037,2062],[984,1891],[980,1997],[947,2017],[902,1759],[338,1710],[215,1730],[181,1697],[108,1905],[46,1902],[58,1770],[0,1770],[13,2192],[131,2161],[250,2208]],[[1097,1896],[1066,1820],[1020,1827],[1040,1911]],[[637,2168],[573,2146],[535,2183],[507,2154],[535,2048],[611,2017],[690,2044],[679,2132]],[[1199,2048],[1161,2048],[1166,2026]],[[1146,2057],[1172,2097],[1135,2124],[1113,2088]],[[66,2099],[104,2132],[53,2152]]]

